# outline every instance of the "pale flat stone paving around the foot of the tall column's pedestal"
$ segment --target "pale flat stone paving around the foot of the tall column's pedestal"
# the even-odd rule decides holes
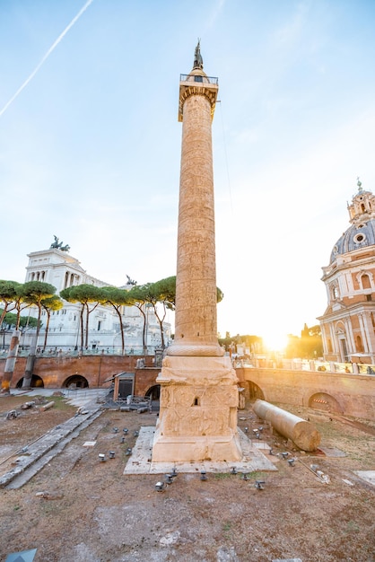
[[[155,433],[154,426],[141,427],[139,436],[133,447],[132,455],[126,462],[124,474],[166,474],[172,468],[178,472],[200,472],[205,470],[208,472],[228,472],[233,467],[239,472],[255,472],[257,470],[277,470],[274,463],[269,461],[265,454],[255,446],[252,446],[249,438],[239,429],[240,446],[242,450],[242,459],[238,462],[153,462],[153,435]],[[266,443],[263,443],[266,445]],[[253,443],[254,445],[254,443]],[[262,447],[264,451],[269,450],[266,445]]]

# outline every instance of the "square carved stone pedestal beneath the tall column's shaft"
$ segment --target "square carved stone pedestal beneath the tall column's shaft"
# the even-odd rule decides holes
[[[230,357],[167,356],[154,462],[240,461],[239,392]]]

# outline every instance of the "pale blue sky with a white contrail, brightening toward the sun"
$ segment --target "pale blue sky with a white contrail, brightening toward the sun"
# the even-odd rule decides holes
[[[218,329],[276,345],[318,323],[357,176],[375,189],[374,25],[372,0],[0,0],[0,278],[54,234],[110,284],[175,274],[199,37],[219,77]]]

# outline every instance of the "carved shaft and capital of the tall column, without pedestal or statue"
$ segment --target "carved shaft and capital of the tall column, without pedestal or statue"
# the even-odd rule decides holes
[[[170,356],[222,356],[217,341],[211,123],[217,79],[194,68],[179,87],[182,120],[175,339]]]

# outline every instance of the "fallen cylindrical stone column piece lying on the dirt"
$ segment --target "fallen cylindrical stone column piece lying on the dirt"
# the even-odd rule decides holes
[[[270,422],[279,434],[290,439],[302,451],[318,448],[320,434],[310,422],[265,400],[256,400],[253,409],[257,417]]]

